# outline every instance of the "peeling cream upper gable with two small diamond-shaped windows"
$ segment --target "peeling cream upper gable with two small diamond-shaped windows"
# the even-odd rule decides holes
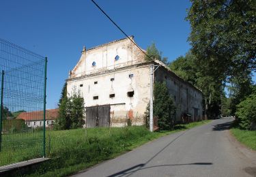
[[[115,60],[117,55],[119,59]],[[143,52],[130,39],[121,39],[83,51],[79,62],[71,71],[70,78],[134,65],[141,61],[144,61]],[[94,62],[95,66],[92,65]]]

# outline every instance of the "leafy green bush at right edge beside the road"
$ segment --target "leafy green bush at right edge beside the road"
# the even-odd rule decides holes
[[[256,93],[251,94],[238,104],[236,117],[241,129],[255,129],[256,123]]]

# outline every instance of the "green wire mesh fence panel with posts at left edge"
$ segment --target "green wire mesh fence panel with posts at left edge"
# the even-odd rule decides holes
[[[0,39],[0,166],[45,155],[46,58]]]

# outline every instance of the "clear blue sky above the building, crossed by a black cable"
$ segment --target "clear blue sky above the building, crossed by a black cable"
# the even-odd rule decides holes
[[[152,42],[169,61],[186,54],[190,1],[95,0],[139,46]],[[0,37],[48,57],[46,108],[56,108],[61,88],[81,56],[124,35],[90,0],[13,1],[0,3]]]

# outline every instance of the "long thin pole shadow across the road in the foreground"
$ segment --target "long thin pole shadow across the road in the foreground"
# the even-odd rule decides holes
[[[146,164],[147,163],[141,163],[141,164],[138,164],[138,165],[134,165],[133,167],[129,167],[126,170],[122,170],[122,171],[117,172],[115,174],[111,174],[110,176],[107,176],[107,177],[124,176],[124,175],[127,175],[127,174],[128,174],[128,176],[130,176],[130,174],[134,174],[134,172],[138,172],[140,170],[145,170],[145,169],[154,168],[154,167],[169,167],[169,166],[180,166],[180,165],[213,165],[213,163],[209,163],[209,162],[196,162],[196,163],[154,165],[154,166],[144,167]],[[139,168],[136,169],[137,167],[139,167]]]

